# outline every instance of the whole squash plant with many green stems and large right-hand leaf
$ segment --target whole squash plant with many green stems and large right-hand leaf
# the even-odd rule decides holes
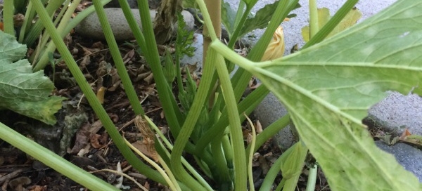
[[[236,14],[238,16],[232,22],[227,22],[231,23],[234,30],[229,46],[226,46],[219,41],[219,33],[212,27],[220,25],[210,17],[219,14],[208,12],[215,10],[210,8],[213,1],[197,0],[196,4],[207,26],[205,37],[210,40],[210,46],[206,52],[200,84],[197,89],[191,88],[194,96],[183,96],[173,95],[163,73],[150,15],[146,11],[147,1],[138,0],[141,30],[134,22],[127,1],[120,0],[136,41],[153,71],[160,102],[175,139],[174,144],[170,144],[164,136],[155,138],[155,150],[168,176],[144,164],[129,149],[84,79],[41,2],[31,2],[115,145],[134,169],[152,180],[170,185],[175,190],[247,190],[248,176],[251,178],[248,173],[251,168],[248,166],[250,153],[286,126],[291,118],[298,130],[300,142],[290,147],[274,163],[261,190],[271,189],[280,170],[283,180],[277,190],[282,187],[283,190],[295,190],[308,150],[326,174],[331,190],[421,190],[421,184],[414,175],[397,164],[394,157],[374,145],[361,121],[366,116],[366,110],[385,97],[385,91],[409,93],[413,90],[414,93],[422,93],[418,88],[422,79],[421,58],[418,56],[422,47],[422,27],[418,23],[422,22],[422,17],[418,10],[422,4],[418,1],[397,1],[372,18],[325,39],[357,3],[357,0],[348,0],[321,29],[312,27],[314,22],[311,23],[311,38],[302,50],[284,58],[260,62],[274,31],[298,4],[297,0],[281,0],[274,6],[274,12],[271,12],[274,14],[266,32],[247,58],[236,54],[231,46],[240,37],[239,34],[243,34],[245,21],[257,1],[241,1],[241,8]],[[94,6],[101,18],[124,89],[135,114],[139,115],[139,123],[148,124],[151,131],[155,131],[155,124],[145,115],[134,94],[101,1],[94,0]],[[230,79],[232,63],[241,68]],[[240,100],[252,74],[260,78],[264,86]],[[186,83],[189,84],[188,81]],[[188,90],[186,85],[180,88],[182,93]],[[286,105],[289,114],[271,124],[260,135],[254,136],[252,143],[255,144],[245,149],[241,132],[241,121],[246,118],[244,113],[252,112],[269,91]],[[183,110],[177,105],[176,96],[187,103]],[[155,133],[160,135],[158,131]],[[77,167],[63,162],[63,159],[38,145],[30,144],[25,137],[17,135],[7,126],[1,126],[0,138],[92,190],[108,187],[96,178],[88,179],[89,176],[84,176],[87,179],[82,180],[72,176],[70,172],[75,172],[68,171],[68,168],[79,171]],[[186,163],[184,153],[193,156],[199,169],[193,169]],[[63,166],[55,165],[58,161]],[[213,183],[205,181],[198,172],[208,176]],[[82,171],[79,173],[86,175]],[[312,176],[307,190],[312,190],[312,184],[315,184]],[[90,185],[87,180],[94,182]],[[254,190],[251,182],[249,189]]]

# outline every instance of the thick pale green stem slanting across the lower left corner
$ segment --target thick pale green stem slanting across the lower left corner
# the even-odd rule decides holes
[[[110,185],[100,178],[80,169],[75,164],[72,164],[51,150],[38,145],[33,140],[22,136],[20,133],[13,131],[13,129],[0,123],[0,139],[5,140],[7,143],[17,147],[31,157],[39,160],[50,166],[51,169],[58,171],[58,173],[74,180],[75,182],[84,185],[89,190],[117,190],[116,187]]]

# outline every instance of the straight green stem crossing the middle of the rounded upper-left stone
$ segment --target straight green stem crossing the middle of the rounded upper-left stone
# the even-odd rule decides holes
[[[132,85],[132,81],[130,80],[129,74],[127,74],[126,67],[124,66],[122,55],[120,55],[119,46],[117,46],[116,39],[110,27],[110,23],[107,20],[106,11],[104,11],[100,0],[94,0],[93,2],[98,19],[100,20],[101,28],[103,29],[104,35],[106,36],[106,41],[108,47],[110,48],[110,53],[117,68],[117,74],[119,74],[120,79],[122,79],[124,92],[126,92],[126,95],[129,98],[129,103],[132,105],[136,115],[145,115],[141,103],[139,102],[138,95],[136,95],[136,91]]]

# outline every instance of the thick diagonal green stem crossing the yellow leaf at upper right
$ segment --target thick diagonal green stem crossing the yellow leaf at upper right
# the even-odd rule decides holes
[[[302,49],[305,49],[309,46],[312,46],[314,44],[317,44],[323,41],[328,36],[328,34],[330,34],[331,31],[333,31],[335,26],[337,26],[338,23],[340,23],[340,21],[343,20],[343,18],[345,18],[347,13],[349,13],[350,10],[352,10],[352,8],[357,4],[357,1],[359,0],[347,0],[345,4],[343,4],[343,6],[341,6],[341,8],[337,11],[337,13],[334,14],[333,18],[328,20],[326,25],[324,25],[324,27],[322,27],[319,30],[319,32],[315,34],[314,37],[309,39],[307,44],[305,44],[305,46],[303,46]]]

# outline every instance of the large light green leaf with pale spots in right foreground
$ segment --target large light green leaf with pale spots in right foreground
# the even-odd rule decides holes
[[[332,190],[422,190],[361,122],[387,90],[422,95],[421,10],[422,1],[397,1],[293,55],[238,62],[286,105]]]

